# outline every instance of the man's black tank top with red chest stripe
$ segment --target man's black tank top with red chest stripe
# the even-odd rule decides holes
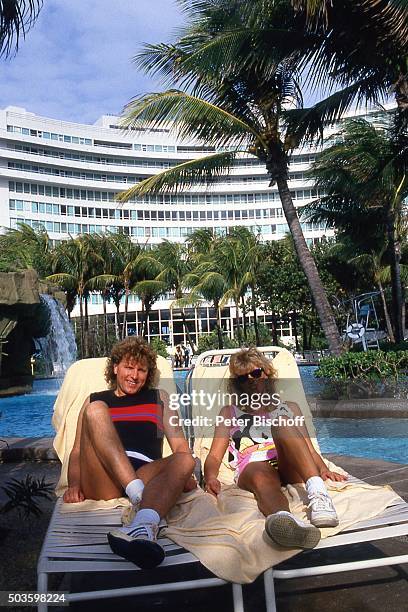
[[[157,389],[141,389],[118,397],[113,390],[91,393],[90,401],[105,402],[125,450],[160,459],[163,452],[163,403]]]

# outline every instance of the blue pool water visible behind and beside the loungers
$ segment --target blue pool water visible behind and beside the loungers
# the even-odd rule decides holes
[[[307,394],[318,390],[313,366],[301,367]],[[175,372],[182,388],[186,373]],[[33,392],[0,399],[0,438],[50,437],[54,435],[51,415],[61,380],[36,380]],[[377,458],[408,463],[408,419],[314,419],[323,453]]]

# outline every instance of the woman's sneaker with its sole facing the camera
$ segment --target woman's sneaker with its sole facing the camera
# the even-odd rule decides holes
[[[265,537],[267,536],[267,537]],[[264,539],[286,548],[314,548],[320,541],[317,527],[304,523],[290,512],[270,514],[265,521]]]

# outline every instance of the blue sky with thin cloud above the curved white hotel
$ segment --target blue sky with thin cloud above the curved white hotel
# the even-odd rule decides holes
[[[132,63],[144,43],[171,42],[176,0],[44,0],[17,55],[0,59],[0,108],[94,123],[134,96],[159,91]]]

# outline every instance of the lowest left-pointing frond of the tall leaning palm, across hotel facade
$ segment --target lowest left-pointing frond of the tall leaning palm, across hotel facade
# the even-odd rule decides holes
[[[116,199],[119,202],[128,202],[146,194],[171,193],[187,189],[192,185],[211,183],[228,172],[234,163],[236,153],[236,151],[224,151],[184,162],[140,181],[127,191],[119,193]]]

